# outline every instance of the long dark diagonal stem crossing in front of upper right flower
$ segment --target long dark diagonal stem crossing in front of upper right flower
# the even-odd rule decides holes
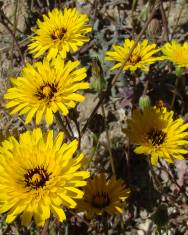
[[[152,10],[152,12],[151,12],[151,15],[150,15],[150,17],[148,18],[148,20],[146,21],[146,23],[144,24],[144,26],[143,26],[141,32],[139,33],[139,35],[138,35],[138,37],[137,37],[137,39],[136,39],[134,45],[133,45],[132,48],[130,49],[129,54],[126,56],[124,62],[122,63],[121,67],[119,68],[119,70],[117,70],[117,72],[116,72],[116,74],[115,74],[115,76],[114,76],[114,79],[112,80],[112,82],[111,82],[111,84],[109,85],[108,89],[107,89],[106,91],[104,91],[104,92],[99,96],[99,101],[98,101],[98,103],[97,103],[96,106],[94,107],[92,113],[90,114],[90,117],[87,119],[87,121],[86,121],[86,123],[85,123],[83,129],[81,130],[81,136],[82,136],[82,135],[84,134],[84,132],[86,131],[89,122],[92,120],[94,114],[96,113],[96,111],[98,110],[98,108],[101,106],[103,100],[108,96],[108,93],[109,93],[109,91],[111,90],[112,86],[114,86],[114,84],[116,83],[116,81],[117,81],[119,75],[120,75],[121,72],[123,71],[123,68],[124,68],[125,64],[126,64],[127,61],[130,59],[130,57],[131,57],[131,55],[132,55],[134,49],[136,48],[136,46],[137,46],[138,42],[140,41],[142,35],[143,35],[144,32],[146,31],[146,29],[147,29],[147,27],[148,27],[150,21],[152,20],[154,14],[155,14],[155,12],[156,12],[156,10],[158,9],[159,4],[160,4],[160,0],[156,0],[156,1],[155,1],[155,5],[154,5],[154,7],[153,7],[153,10]]]

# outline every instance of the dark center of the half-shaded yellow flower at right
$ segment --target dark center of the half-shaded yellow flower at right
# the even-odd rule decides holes
[[[166,133],[163,132],[162,130],[154,129],[152,128],[148,133],[147,133],[148,140],[151,141],[152,145],[161,145],[164,143],[165,138],[166,138]]]

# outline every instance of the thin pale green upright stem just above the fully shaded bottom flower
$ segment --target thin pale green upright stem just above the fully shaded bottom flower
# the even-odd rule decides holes
[[[103,114],[103,117],[104,117],[104,120],[105,120],[107,148],[108,148],[108,152],[109,152],[109,156],[110,156],[110,164],[111,164],[111,167],[112,167],[112,173],[113,173],[114,176],[116,176],[115,165],[114,165],[113,155],[112,155],[112,151],[111,151],[110,135],[109,135],[109,132],[108,132],[108,126],[107,126],[107,122],[106,122],[106,115],[105,115],[105,109],[104,109],[103,103],[101,104],[101,109],[102,109],[102,114]]]

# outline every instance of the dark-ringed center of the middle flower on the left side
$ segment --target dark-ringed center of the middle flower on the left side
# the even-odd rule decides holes
[[[35,93],[35,96],[38,97],[39,100],[47,99],[48,101],[54,97],[54,94],[57,92],[57,88],[55,84],[45,84],[40,86]]]

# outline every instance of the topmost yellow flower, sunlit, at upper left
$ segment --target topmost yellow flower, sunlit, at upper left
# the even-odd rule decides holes
[[[76,52],[80,46],[89,41],[85,36],[92,30],[87,15],[81,14],[76,8],[61,10],[54,9],[43,15],[44,21],[37,21],[35,35],[31,37],[28,46],[34,58],[47,52],[47,59],[55,58],[60,54],[63,58],[67,52]]]

